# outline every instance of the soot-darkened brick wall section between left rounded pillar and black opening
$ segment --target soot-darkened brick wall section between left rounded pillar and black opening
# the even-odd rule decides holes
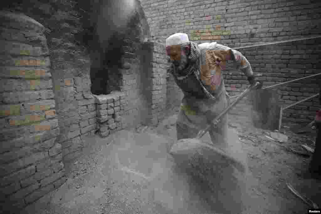
[[[64,161],[82,153],[82,136],[96,129],[95,101],[90,91],[90,54],[75,34],[82,30],[76,4],[72,1],[38,1],[28,5],[26,13],[45,26],[51,60],[56,113],[60,127],[57,141],[62,145]]]

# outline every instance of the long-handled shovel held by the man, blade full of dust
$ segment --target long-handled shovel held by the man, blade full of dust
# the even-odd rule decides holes
[[[222,116],[227,114],[232,107],[234,107],[239,100],[248,95],[248,93],[252,90],[257,90],[262,88],[262,82],[257,81],[255,84],[250,85],[244,92],[242,92],[236,100],[234,100],[226,109],[224,109],[218,116],[213,119],[213,124],[216,126]],[[204,130],[198,132],[195,138],[181,139],[177,142],[174,142],[170,147],[169,153],[175,157],[183,157],[190,158],[195,154],[197,150],[198,153],[201,153],[202,156],[214,158],[213,162],[221,163],[221,164],[230,164],[236,167],[239,171],[244,172],[245,168],[243,164],[239,163],[235,158],[227,155],[223,150],[216,148],[213,144],[206,143],[200,140],[204,136],[205,133],[209,131],[211,125],[207,125]]]

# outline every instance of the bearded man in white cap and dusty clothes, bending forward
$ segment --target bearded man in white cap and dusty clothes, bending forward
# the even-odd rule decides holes
[[[209,134],[213,144],[224,143],[228,131],[226,114],[217,126],[212,120],[229,103],[221,70],[231,60],[241,70],[250,84],[258,81],[247,59],[237,50],[216,42],[197,45],[187,34],[175,33],[166,39],[166,52],[170,57],[172,73],[183,91],[181,109],[177,120],[177,139],[195,138],[207,124],[212,124]]]

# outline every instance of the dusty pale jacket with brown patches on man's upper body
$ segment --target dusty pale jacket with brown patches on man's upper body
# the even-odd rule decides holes
[[[221,70],[228,60],[246,76],[253,75],[251,65],[239,51],[216,42],[200,45],[191,42],[188,59],[190,66],[185,69],[185,75],[179,75],[175,66],[169,69],[185,96],[217,99],[225,91]]]

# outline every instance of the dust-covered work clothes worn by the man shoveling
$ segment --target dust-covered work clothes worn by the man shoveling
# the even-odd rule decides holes
[[[253,75],[251,65],[239,51],[216,42],[200,45],[191,42],[191,53],[188,58],[193,66],[189,65],[184,71],[187,75],[178,75],[175,66],[169,70],[184,93],[177,121],[178,139],[193,138],[199,130],[211,123],[210,119],[212,120],[228,106],[229,100],[226,97],[221,72],[228,60],[246,76]],[[189,69],[193,69],[193,72]],[[218,134],[224,138],[227,118],[226,115],[217,128],[213,127],[209,131],[212,141],[217,139],[215,136]]]

